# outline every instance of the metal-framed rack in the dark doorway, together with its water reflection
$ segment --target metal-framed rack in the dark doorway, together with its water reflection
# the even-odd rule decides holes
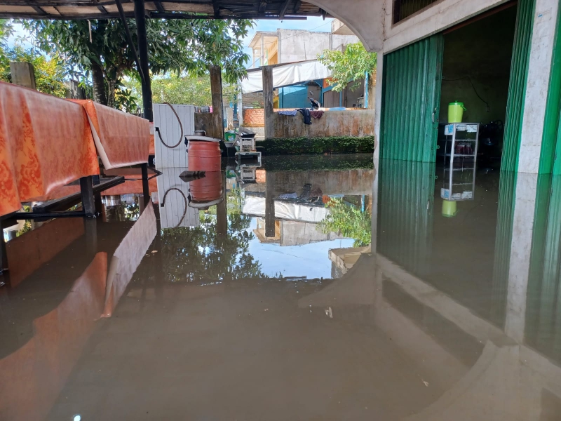
[[[473,200],[479,123],[450,123],[444,134],[445,168],[440,197],[448,201]]]

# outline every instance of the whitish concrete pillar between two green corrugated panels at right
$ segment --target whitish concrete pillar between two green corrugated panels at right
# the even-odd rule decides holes
[[[518,153],[518,171],[522,173],[536,174],[539,170],[558,10],[558,0],[536,0]]]

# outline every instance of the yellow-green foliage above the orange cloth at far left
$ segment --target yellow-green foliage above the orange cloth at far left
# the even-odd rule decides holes
[[[12,81],[10,62],[29,62],[34,68],[37,91],[66,98],[65,68],[58,55],[47,58],[33,49],[25,50],[22,46],[0,50],[3,51],[0,54],[1,81]]]

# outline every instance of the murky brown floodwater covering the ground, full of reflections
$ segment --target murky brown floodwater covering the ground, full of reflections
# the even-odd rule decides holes
[[[451,212],[433,164],[271,157],[205,209],[181,171],[8,242],[1,420],[560,419],[557,178]]]

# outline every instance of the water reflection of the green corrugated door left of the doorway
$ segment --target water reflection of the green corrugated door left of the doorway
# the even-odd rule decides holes
[[[379,253],[423,276],[432,250],[435,166],[433,163],[379,161]]]

